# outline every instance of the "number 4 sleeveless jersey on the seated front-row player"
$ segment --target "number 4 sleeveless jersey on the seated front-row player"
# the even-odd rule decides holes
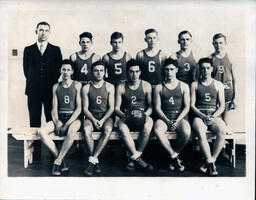
[[[166,87],[162,84],[161,109],[164,113],[171,111],[181,111],[183,106],[183,94],[181,91],[181,83],[178,82],[174,89]]]

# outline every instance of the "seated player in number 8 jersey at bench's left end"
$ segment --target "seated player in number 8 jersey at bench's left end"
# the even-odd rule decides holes
[[[81,83],[71,79],[73,71],[72,62],[63,60],[60,70],[62,82],[53,86],[52,121],[38,130],[41,140],[56,157],[52,168],[52,175],[56,176],[69,170],[64,158],[81,126],[78,116],[81,113],[80,92],[82,86]],[[60,152],[49,136],[49,133],[53,131],[56,135],[66,136]]]

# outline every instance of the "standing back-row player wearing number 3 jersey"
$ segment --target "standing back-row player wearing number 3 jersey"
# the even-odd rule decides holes
[[[180,50],[172,54],[170,58],[178,61],[177,79],[187,83],[189,86],[197,80],[197,62],[191,50],[192,34],[182,31],[178,35]]]

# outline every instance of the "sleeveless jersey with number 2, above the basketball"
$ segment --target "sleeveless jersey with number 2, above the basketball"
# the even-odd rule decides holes
[[[143,91],[142,80],[136,90],[132,90],[125,82],[125,92],[122,96],[122,108],[131,109],[146,109],[146,94]]]

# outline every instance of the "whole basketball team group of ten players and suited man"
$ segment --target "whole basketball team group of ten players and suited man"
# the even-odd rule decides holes
[[[67,153],[76,134],[83,133],[88,148],[84,174],[101,173],[99,156],[116,126],[126,147],[128,171],[155,169],[143,160],[143,152],[153,134],[166,150],[169,170],[183,172],[186,166],[179,154],[190,138],[198,138],[205,163],[199,170],[217,176],[218,156],[229,159],[225,135],[230,110],[235,109],[235,84],[232,64],[225,47],[226,36],[217,33],[212,44],[215,51],[196,60],[191,50],[192,34],[178,35],[180,49],[167,56],[158,47],[158,32],[145,31],[146,48],[136,59],[122,49],[124,36],[110,36],[112,50],[102,58],[92,52],[90,32],[79,35],[80,51],[62,59],[58,46],[48,42],[50,25],[37,24],[37,41],[24,49],[23,70],[26,78],[30,126],[40,127],[41,141],[53,154],[52,175],[69,170]],[[41,126],[42,105],[47,123]],[[207,131],[216,135],[213,145]],[[93,132],[101,132],[98,141]],[[65,136],[61,148],[50,133]],[[131,132],[139,132],[134,141]],[[168,132],[176,132],[172,143]],[[191,134],[192,133],[192,134]]]

